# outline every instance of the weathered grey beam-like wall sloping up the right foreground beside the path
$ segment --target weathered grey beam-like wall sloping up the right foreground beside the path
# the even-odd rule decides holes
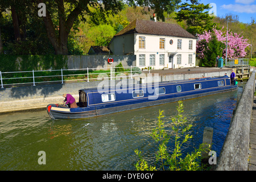
[[[250,123],[254,91],[255,71],[251,73],[243,89],[236,113],[230,123],[229,131],[218,159],[216,168],[218,171],[247,171],[248,169]]]

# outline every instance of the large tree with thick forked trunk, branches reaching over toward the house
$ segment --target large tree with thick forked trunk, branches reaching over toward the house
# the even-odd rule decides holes
[[[46,3],[46,16],[43,16],[44,24],[46,26],[47,35],[51,42],[56,54],[67,55],[67,42],[68,35],[73,27],[73,24],[81,14],[89,14],[89,7],[99,6],[100,13],[102,14],[117,14],[123,8],[123,1],[90,1],[90,0],[37,0],[38,3]],[[155,10],[155,13],[159,15],[159,18],[164,19],[164,10],[170,9],[170,1],[154,1],[154,0],[143,0],[134,1],[127,0],[127,3],[133,6],[150,6]],[[172,2],[180,2],[180,0],[172,0]],[[175,3],[174,3],[175,4]],[[168,5],[168,7],[167,7]],[[57,16],[57,26],[53,23],[53,17]],[[102,17],[101,15],[97,15]]]

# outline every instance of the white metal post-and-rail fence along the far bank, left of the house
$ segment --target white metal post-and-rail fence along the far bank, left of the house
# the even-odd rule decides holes
[[[84,68],[84,69],[57,69],[57,70],[45,70],[45,71],[20,71],[20,72],[1,72],[0,71],[0,80],[1,80],[1,88],[4,88],[4,85],[19,85],[19,84],[33,84],[33,86],[35,86],[35,84],[37,83],[46,83],[46,82],[61,82],[61,84],[64,84],[64,81],[90,81],[90,80],[97,80],[98,78],[100,78],[101,80],[103,79],[116,79],[116,78],[133,78],[133,75],[135,73],[141,73],[140,69],[138,70],[133,70],[133,68],[138,68],[138,67],[123,67],[126,71],[124,72],[115,72],[115,68],[118,67],[110,67],[110,68]],[[97,70],[100,70],[101,72],[95,72]],[[103,71],[102,70],[106,70]],[[129,70],[129,71],[127,71]],[[84,73],[79,73],[79,74],[67,74],[64,75],[64,72],[76,72],[76,71],[84,71]],[[39,72],[57,72],[57,75],[43,75],[43,76],[36,76],[35,73],[39,73]],[[28,75],[31,76],[19,76],[19,77],[15,77],[15,75],[17,75],[18,73],[27,73]],[[31,74],[32,73],[32,74]],[[14,77],[10,77],[11,74],[14,74]],[[98,75],[101,75],[100,77],[97,77]],[[67,80],[65,80],[65,77],[73,77],[73,76],[80,76],[83,78],[78,78],[78,79],[73,79],[73,78],[69,78]],[[38,78],[47,78],[47,77],[59,77],[59,80],[51,80],[51,81],[37,81],[39,80]],[[30,81],[25,81],[24,80],[30,80]],[[10,82],[10,80],[22,80],[22,81],[15,81],[15,83],[8,83]],[[7,82],[5,84],[5,82]]]

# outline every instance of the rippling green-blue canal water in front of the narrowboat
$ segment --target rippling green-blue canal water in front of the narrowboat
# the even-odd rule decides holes
[[[203,142],[205,127],[213,127],[212,150],[220,154],[228,132],[237,91],[185,100],[184,113],[193,138],[181,150],[187,154]],[[177,102],[90,119],[52,120],[46,110],[0,115],[0,170],[135,170],[138,148],[154,163],[157,144],[150,137],[159,110],[172,136],[171,118]],[[168,144],[172,152],[174,137]],[[39,164],[44,151],[46,164]],[[41,158],[40,158],[41,159]]]

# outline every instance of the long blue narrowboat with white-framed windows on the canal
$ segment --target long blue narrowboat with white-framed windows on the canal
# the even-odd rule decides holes
[[[237,85],[231,85],[228,76],[152,82],[133,86],[121,85],[119,88],[109,87],[104,91],[98,88],[81,89],[77,108],[49,104],[46,109],[52,119],[88,118],[234,89],[237,89]]]

